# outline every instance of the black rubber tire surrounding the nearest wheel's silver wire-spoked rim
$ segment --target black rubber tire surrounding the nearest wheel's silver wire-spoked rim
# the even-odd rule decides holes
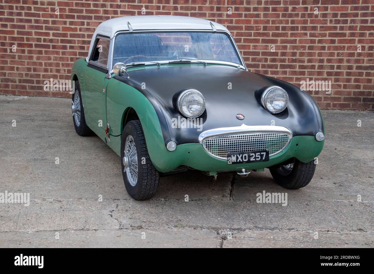
[[[129,135],[134,139],[138,159],[138,177],[135,186],[131,185],[127,177],[127,171],[124,171],[125,143]],[[142,164],[142,159],[145,162],[144,164]],[[159,172],[149,158],[143,128],[139,120],[129,121],[123,129],[121,138],[121,170],[126,190],[132,198],[139,201],[148,200],[156,194],[159,186]]]

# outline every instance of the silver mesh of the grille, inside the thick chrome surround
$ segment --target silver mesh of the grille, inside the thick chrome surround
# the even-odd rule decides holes
[[[251,132],[208,137],[203,140],[204,149],[213,156],[227,159],[227,153],[268,150],[269,156],[280,152],[291,140],[286,133]]]

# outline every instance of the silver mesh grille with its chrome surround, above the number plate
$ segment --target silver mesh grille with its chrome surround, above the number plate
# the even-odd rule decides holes
[[[217,128],[204,131],[199,142],[210,155],[227,160],[227,153],[268,150],[269,156],[281,152],[292,138],[292,132],[278,126]]]

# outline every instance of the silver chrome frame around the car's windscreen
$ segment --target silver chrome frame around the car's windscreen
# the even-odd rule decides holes
[[[229,31],[225,31],[225,30],[217,30],[217,31],[213,31],[213,30],[133,30],[133,31],[118,31],[117,33],[114,34],[113,38],[111,39],[111,44],[110,44],[110,59],[108,60],[108,66],[110,68],[110,71],[109,73],[112,74],[113,73],[113,51],[114,51],[114,42],[116,40],[116,37],[117,35],[119,34],[125,34],[125,33],[150,33],[150,32],[209,32],[209,33],[225,33],[227,34],[227,36],[229,36],[229,39],[232,43],[232,45],[234,46],[234,50],[236,51],[236,54],[237,56],[239,57],[239,61],[241,62],[241,64],[236,64],[236,63],[231,63],[231,62],[226,62],[226,61],[216,61],[216,60],[199,60],[199,61],[203,61],[207,64],[221,64],[221,65],[229,65],[229,66],[233,66],[233,67],[238,67],[238,68],[241,68],[243,70],[248,70],[247,67],[245,66],[245,63],[244,63],[244,60],[243,60],[243,57],[242,55],[240,54],[240,51],[234,41],[234,37],[231,35],[231,33]],[[169,61],[176,61],[176,60],[165,60],[165,61],[158,61],[158,62],[144,62],[145,64],[156,64],[156,63],[159,63],[159,64],[169,64]],[[193,60],[191,60],[191,64],[198,64],[198,63],[194,63]],[[142,62],[143,63],[143,62]],[[181,62],[183,63],[183,62]],[[178,63],[173,63],[173,64],[178,64]]]

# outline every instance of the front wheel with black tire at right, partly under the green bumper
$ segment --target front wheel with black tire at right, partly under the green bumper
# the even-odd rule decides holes
[[[287,171],[285,166],[278,165],[269,168],[274,180],[283,188],[298,189],[308,185],[313,178],[316,164],[314,160],[303,163],[295,159],[291,171]]]

